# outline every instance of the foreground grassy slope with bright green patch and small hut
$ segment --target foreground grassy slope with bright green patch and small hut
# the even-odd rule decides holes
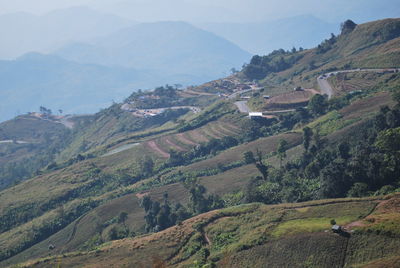
[[[169,267],[190,267],[195,262],[213,262],[219,267],[384,263],[398,257],[400,249],[398,226],[391,234],[383,232],[400,216],[399,201],[400,196],[394,195],[232,207],[199,215],[160,233],[115,241],[89,253],[32,261],[27,266],[52,267],[59,263],[75,267],[85,263],[86,267],[148,267],[157,258],[166,260]],[[391,219],[379,218],[388,213]],[[371,221],[372,217],[380,220]],[[340,236],[325,231],[332,218],[343,225],[362,224],[348,226],[349,232],[354,231]],[[376,250],[377,245],[381,250]],[[202,255],[206,251],[209,256]]]

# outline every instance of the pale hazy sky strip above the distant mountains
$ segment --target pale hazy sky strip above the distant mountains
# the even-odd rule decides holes
[[[398,17],[398,0],[0,0],[0,14],[86,5],[136,21],[261,21],[312,14],[330,22]]]

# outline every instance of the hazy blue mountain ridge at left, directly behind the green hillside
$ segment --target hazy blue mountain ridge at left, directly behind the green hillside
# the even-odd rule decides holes
[[[93,113],[138,88],[196,77],[161,77],[151,70],[79,64],[60,57],[29,53],[0,61],[0,121],[37,111],[39,106],[66,113]]]

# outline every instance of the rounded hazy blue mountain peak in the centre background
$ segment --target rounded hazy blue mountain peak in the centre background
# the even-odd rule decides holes
[[[55,54],[80,63],[209,78],[227,74],[232,67],[241,67],[251,56],[213,33],[174,21],[138,24],[92,43],[68,45]]]

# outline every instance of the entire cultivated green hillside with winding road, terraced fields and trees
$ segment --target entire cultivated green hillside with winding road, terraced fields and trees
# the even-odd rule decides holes
[[[91,116],[2,123],[0,161],[35,164],[0,191],[0,266],[397,264],[399,23],[347,21],[315,49]],[[292,109],[294,87],[310,94]]]

